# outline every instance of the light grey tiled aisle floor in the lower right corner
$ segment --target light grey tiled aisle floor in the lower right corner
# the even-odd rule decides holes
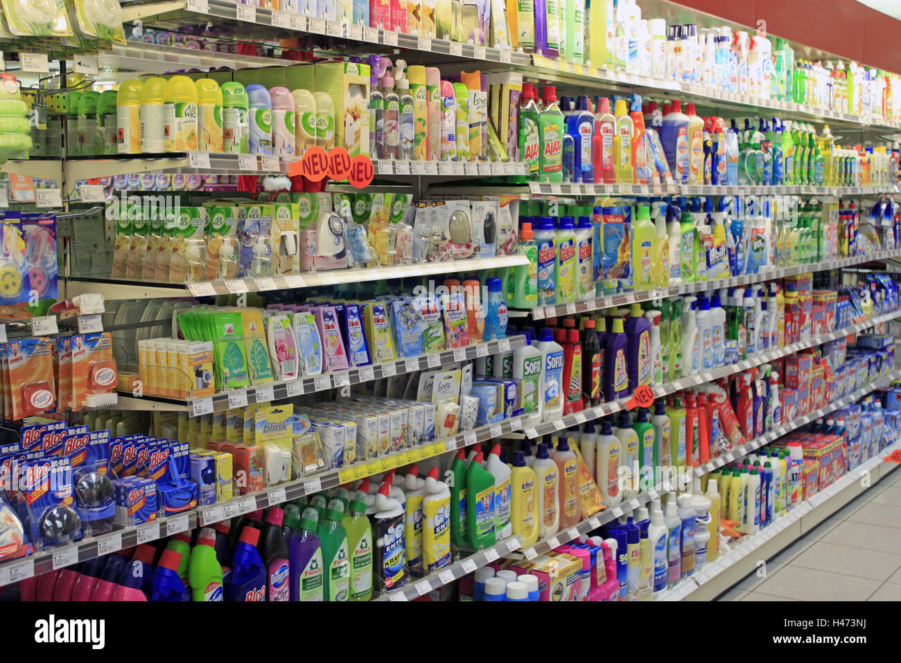
[[[767,561],[719,601],[901,601],[901,470]]]

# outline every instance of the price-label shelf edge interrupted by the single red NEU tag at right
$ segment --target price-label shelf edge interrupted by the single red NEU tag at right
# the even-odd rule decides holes
[[[867,329],[882,322],[887,322],[896,318],[901,318],[901,308],[896,311],[892,311],[891,313],[877,316],[876,318],[870,318],[869,320],[854,323],[853,325],[849,325],[848,327],[836,329],[829,334],[814,336],[813,338],[808,338],[805,341],[798,341],[791,345],[786,345],[785,347],[780,347],[774,350],[769,350],[767,352],[751,355],[750,358],[742,359],[735,364],[728,364],[711,369],[710,371],[702,371],[701,373],[688,375],[687,377],[680,378],[679,380],[674,380],[673,382],[665,382],[659,387],[654,388],[654,396],[656,398],[660,398],[661,396],[666,396],[670,393],[676,393],[677,391],[681,391],[683,389],[690,389],[700,384],[705,384],[706,382],[714,382],[714,380],[718,380],[719,378],[727,377],[735,373],[742,373],[743,371],[747,371],[749,368],[760,366],[760,364],[767,364],[768,362],[771,362],[774,359],[778,359],[779,357],[791,355],[793,353],[804,350],[805,348],[814,347],[815,345],[823,345],[824,343],[834,341],[837,338],[842,338],[842,336],[855,334],[862,331],[863,329]],[[586,421],[600,419],[601,417],[606,417],[607,415],[613,414],[614,412],[625,410],[626,402],[629,401],[629,398],[630,397],[626,397],[620,399],[619,401],[601,403],[600,405],[596,405],[592,408],[587,408],[586,410],[582,410],[581,412],[575,412],[573,414],[565,415],[563,417],[560,417],[560,419],[544,421],[538,426],[525,428],[523,433],[525,434],[525,437],[534,439],[536,437],[541,437],[542,435],[556,433],[557,431],[563,430],[564,428],[569,428],[570,426],[578,426],[579,424],[583,424]]]

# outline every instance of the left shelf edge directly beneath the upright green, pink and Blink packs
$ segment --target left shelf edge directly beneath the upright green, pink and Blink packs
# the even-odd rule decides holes
[[[123,394],[120,394],[120,404],[118,410],[177,410],[190,412],[192,416],[209,414],[210,412],[221,412],[230,408],[242,408],[247,405],[255,405],[257,403],[268,403],[270,401],[280,401],[282,399],[292,398],[294,396],[302,396],[304,394],[315,393],[317,391],[327,391],[353,384],[371,382],[381,378],[387,378],[392,375],[401,375],[404,373],[414,373],[423,369],[439,368],[447,366],[454,362],[462,362],[468,359],[476,359],[486,355],[496,355],[497,353],[507,352],[517,347],[522,347],[525,336],[510,336],[497,341],[488,341],[479,345],[469,345],[468,347],[458,347],[443,352],[430,353],[428,355],[419,355],[415,357],[407,357],[395,362],[386,362],[383,364],[373,364],[369,366],[361,366],[359,368],[351,368],[347,371],[339,371],[337,373],[323,373],[315,377],[300,378],[288,382],[271,382],[252,389],[235,389],[231,391],[222,391],[214,394],[214,396],[203,399],[192,400],[176,400],[167,399],[161,396],[128,396],[125,392],[126,402],[123,401]],[[135,402],[135,401],[141,401]],[[168,407],[171,406],[171,407]]]

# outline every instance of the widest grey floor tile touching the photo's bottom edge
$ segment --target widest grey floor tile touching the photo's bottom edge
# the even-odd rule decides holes
[[[788,565],[755,591],[798,601],[864,601],[879,585],[877,580]]]

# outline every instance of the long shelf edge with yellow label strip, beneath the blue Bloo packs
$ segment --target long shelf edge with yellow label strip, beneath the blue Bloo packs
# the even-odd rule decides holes
[[[241,495],[228,502],[199,507],[196,510],[166,519],[154,520],[137,527],[118,529],[111,534],[36,553],[27,559],[8,561],[0,564],[0,587],[123,548],[132,548],[140,543],[162,539],[187,529],[194,529],[197,526],[209,525],[243,513],[295,500],[304,495],[319,493],[341,483],[362,479],[371,474],[387,472],[425,458],[455,452],[459,448],[486,442],[522,428],[522,418],[504,419],[490,426],[473,428],[465,433],[424,444],[421,447],[398,451],[378,460],[350,465],[350,467],[340,470],[328,470],[296,481],[282,483],[259,493]]]

